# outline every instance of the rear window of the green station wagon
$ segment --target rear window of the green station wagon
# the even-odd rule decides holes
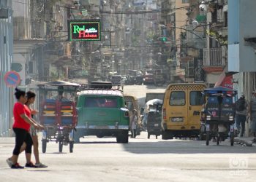
[[[86,108],[117,108],[116,98],[86,98]]]

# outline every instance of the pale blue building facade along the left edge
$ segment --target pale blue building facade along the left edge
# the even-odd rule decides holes
[[[12,65],[12,1],[0,1],[0,137],[10,136],[13,89],[7,87],[4,75]]]

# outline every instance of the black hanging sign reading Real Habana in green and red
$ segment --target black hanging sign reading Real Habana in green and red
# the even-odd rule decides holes
[[[69,41],[100,41],[100,20],[68,20]]]

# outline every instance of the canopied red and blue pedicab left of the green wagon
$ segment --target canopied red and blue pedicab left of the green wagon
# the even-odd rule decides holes
[[[78,122],[75,107],[76,92],[80,84],[56,81],[38,84],[39,120],[44,125],[42,131],[42,153],[45,153],[49,141],[59,143],[59,152],[63,145],[69,144],[69,152],[73,152],[73,135]]]

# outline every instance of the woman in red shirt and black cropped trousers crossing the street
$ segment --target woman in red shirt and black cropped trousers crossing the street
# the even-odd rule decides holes
[[[30,126],[33,125],[35,128],[40,129],[42,126],[34,122],[31,119],[31,111],[25,105],[27,98],[26,92],[15,89],[15,98],[17,102],[13,107],[14,124],[12,125],[12,130],[15,132],[15,148],[12,151],[12,157],[7,159],[7,164],[12,169],[23,169],[18,163],[18,156],[20,154],[20,148],[23,143],[26,143],[26,167],[36,167],[31,162],[31,150],[33,141],[29,133]]]

